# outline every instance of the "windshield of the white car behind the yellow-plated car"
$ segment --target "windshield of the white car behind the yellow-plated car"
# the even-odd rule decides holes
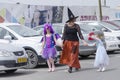
[[[7,26],[13,31],[15,31],[17,34],[19,34],[22,37],[34,37],[34,36],[40,36],[39,33],[37,33],[35,30],[28,28],[26,26],[22,25],[9,25]]]

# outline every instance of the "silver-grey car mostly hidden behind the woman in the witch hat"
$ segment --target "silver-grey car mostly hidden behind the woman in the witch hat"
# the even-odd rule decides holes
[[[64,24],[62,23],[59,23],[59,24],[52,24],[53,25],[53,29],[55,30],[56,33],[58,34],[61,34],[62,35],[62,31],[63,31],[63,26]],[[38,33],[40,33],[42,35],[42,31],[43,31],[43,25],[41,26],[37,26],[35,28],[33,28],[34,30],[36,30]],[[81,31],[83,33],[83,36],[84,36],[84,39],[85,41],[87,41],[88,43],[94,43],[95,40],[90,40],[88,38],[88,35],[91,33],[91,32],[94,32],[94,31],[90,31],[88,29],[85,29],[83,27],[81,27]],[[97,32],[97,31],[96,31]],[[103,34],[102,32],[99,31],[100,34]],[[103,41],[104,41],[104,35],[103,35]],[[81,39],[80,39],[80,56],[81,57],[88,57],[90,56],[91,54],[94,54],[95,51],[96,51],[96,47],[95,46],[84,46]]]

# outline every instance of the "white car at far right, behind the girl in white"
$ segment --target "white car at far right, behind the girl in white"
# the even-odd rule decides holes
[[[86,28],[90,27],[93,31],[103,31],[105,35],[106,50],[108,52],[120,50],[120,29],[118,27],[103,21],[83,21],[82,23],[86,25]]]

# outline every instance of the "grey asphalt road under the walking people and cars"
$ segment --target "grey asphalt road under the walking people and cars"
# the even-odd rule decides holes
[[[81,70],[68,73],[65,65],[56,65],[55,72],[48,72],[46,65],[35,69],[19,69],[13,74],[0,73],[0,80],[119,80],[120,52],[109,54],[110,64],[105,72],[97,72],[93,67],[94,56],[80,59]]]

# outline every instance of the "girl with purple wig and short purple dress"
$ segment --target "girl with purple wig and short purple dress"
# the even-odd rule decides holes
[[[42,57],[47,60],[49,72],[55,70],[54,58],[56,56],[54,30],[51,24],[44,25],[44,37],[42,41]]]

